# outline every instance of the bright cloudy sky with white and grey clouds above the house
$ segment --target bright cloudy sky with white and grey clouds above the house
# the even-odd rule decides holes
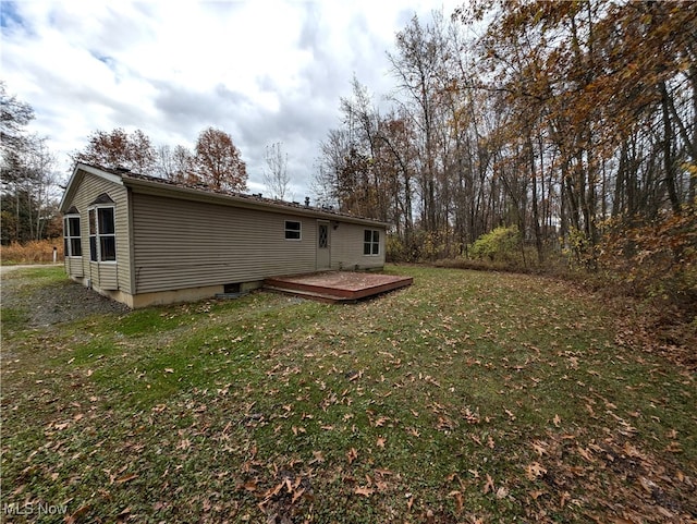
[[[460,3],[1,0],[0,78],[34,108],[30,131],[49,137],[62,173],[97,130],[193,148],[212,125],[240,148],[250,192],[265,190],[265,148],[281,142],[299,200],[353,75],[388,95],[395,33]]]

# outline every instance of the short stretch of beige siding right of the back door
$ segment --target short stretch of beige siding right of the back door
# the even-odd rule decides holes
[[[363,240],[365,230],[380,232],[380,254],[364,255]],[[332,231],[331,267],[332,269],[371,269],[384,266],[384,229],[375,226],[360,226],[341,222]]]

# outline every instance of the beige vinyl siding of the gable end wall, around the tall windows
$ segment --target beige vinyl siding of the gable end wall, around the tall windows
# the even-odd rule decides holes
[[[91,281],[95,288],[121,290],[132,293],[130,273],[129,239],[129,197],[125,187],[91,173],[82,172],[80,183],[72,202],[65,207],[75,206],[80,211],[80,232],[83,247],[82,272],[75,267],[77,258],[71,259],[69,275]],[[114,202],[114,228],[117,235],[117,263],[97,264],[89,259],[89,205],[102,193]]]

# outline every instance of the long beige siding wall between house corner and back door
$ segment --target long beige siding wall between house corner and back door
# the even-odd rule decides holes
[[[314,219],[138,193],[132,206],[136,293],[315,270]],[[302,223],[299,241],[285,220]]]

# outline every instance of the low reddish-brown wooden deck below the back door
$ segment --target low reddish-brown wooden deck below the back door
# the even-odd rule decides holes
[[[326,271],[269,278],[264,281],[264,289],[335,304],[405,288],[413,281],[411,277],[394,275]]]

